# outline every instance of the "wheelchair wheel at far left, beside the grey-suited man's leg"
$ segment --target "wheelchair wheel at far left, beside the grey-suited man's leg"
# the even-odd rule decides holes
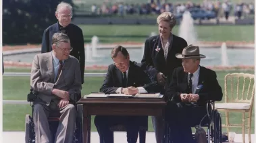
[[[34,122],[30,115],[26,115],[25,119],[25,142],[35,143],[35,133],[34,133]]]

